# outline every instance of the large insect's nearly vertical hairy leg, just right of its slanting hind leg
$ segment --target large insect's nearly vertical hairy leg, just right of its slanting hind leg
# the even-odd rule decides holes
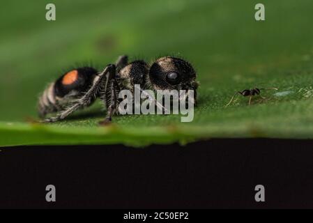
[[[116,70],[109,72],[109,76],[107,77],[107,82],[105,84],[105,100],[107,105],[107,117],[104,121],[100,121],[100,125],[108,125],[112,122],[112,116],[116,111],[117,98],[116,98],[116,90],[119,89],[119,86],[116,83],[115,79]],[[108,98],[107,95],[110,95],[111,98]]]

